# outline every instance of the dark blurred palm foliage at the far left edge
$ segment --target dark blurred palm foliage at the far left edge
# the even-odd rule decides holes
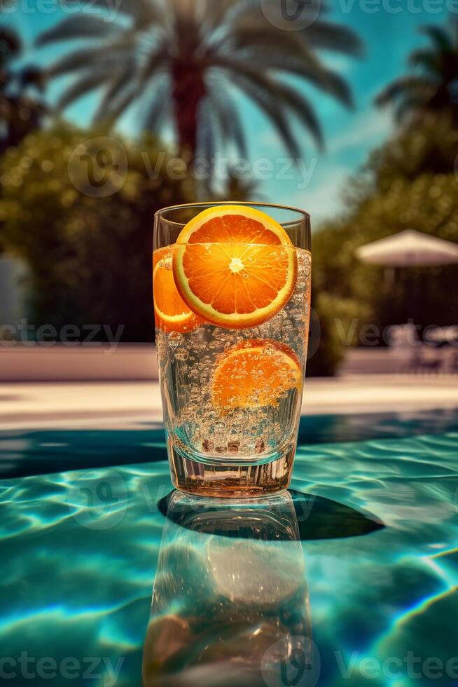
[[[0,26],[0,151],[17,146],[41,125],[45,105],[37,99],[44,87],[44,75],[37,67],[15,69],[22,43],[18,34]]]

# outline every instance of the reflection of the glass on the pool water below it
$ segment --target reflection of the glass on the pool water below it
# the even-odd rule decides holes
[[[309,685],[310,607],[288,493],[169,500],[144,687]]]

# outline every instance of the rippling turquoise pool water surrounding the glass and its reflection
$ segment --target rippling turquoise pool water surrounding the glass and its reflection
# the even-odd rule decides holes
[[[0,456],[0,677],[140,684],[162,535],[163,551],[174,538],[193,549],[196,536],[167,516],[162,430],[4,433]],[[291,489],[296,535],[283,545],[298,562],[301,540],[314,665],[299,684],[457,685],[458,415],[305,418]],[[227,535],[207,526],[197,538],[218,537],[230,561],[250,538]],[[269,541],[256,550],[274,575]],[[193,589],[193,561],[174,583]]]

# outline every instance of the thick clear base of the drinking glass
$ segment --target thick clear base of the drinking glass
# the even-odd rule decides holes
[[[183,456],[168,442],[172,483],[179,491],[217,498],[252,498],[284,491],[291,482],[296,447],[262,465],[202,463]]]

